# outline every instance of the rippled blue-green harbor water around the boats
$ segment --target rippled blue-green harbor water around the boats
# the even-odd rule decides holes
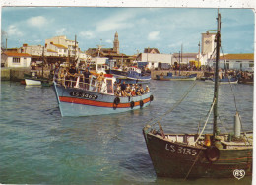
[[[120,114],[61,117],[52,87],[1,82],[0,183],[251,184],[251,177],[157,178],[142,128],[155,119],[165,133],[198,132],[211,107],[214,84],[196,81],[179,106],[166,114],[193,83],[152,80],[154,101],[148,107]],[[221,85],[219,95],[220,132],[234,132],[234,99],[242,130],[252,130],[253,86]],[[211,122],[206,127],[209,133]]]

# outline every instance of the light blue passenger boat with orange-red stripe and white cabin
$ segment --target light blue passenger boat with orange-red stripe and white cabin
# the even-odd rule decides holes
[[[76,81],[70,81],[75,83],[74,86],[66,86],[65,82],[65,79],[54,80],[54,90],[62,116],[120,113],[146,107],[154,98],[151,92],[129,97],[116,96],[116,78],[110,74],[104,74],[100,85],[96,75],[91,75],[88,84],[81,82],[80,77]]]

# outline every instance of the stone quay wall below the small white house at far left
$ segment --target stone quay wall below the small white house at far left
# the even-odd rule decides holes
[[[30,73],[31,68],[1,68],[1,81],[15,81],[19,82],[24,80],[24,74]],[[38,75],[41,71],[38,70]],[[48,77],[50,70],[44,70],[43,76]]]

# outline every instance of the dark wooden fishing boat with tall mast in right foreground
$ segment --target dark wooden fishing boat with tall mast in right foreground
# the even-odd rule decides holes
[[[241,179],[252,175],[253,133],[241,132],[241,119],[236,109],[234,135],[218,131],[219,56],[221,46],[221,15],[218,13],[216,34],[216,69],[214,98],[201,132],[166,134],[160,122],[146,125],[143,135],[158,177]],[[213,132],[204,129],[211,115]],[[158,129],[155,128],[156,125]]]

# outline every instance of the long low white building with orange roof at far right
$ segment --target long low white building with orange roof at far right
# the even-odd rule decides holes
[[[210,66],[215,66],[215,58],[209,60]],[[254,54],[225,54],[220,57],[220,68],[241,71],[253,71],[254,69]]]

